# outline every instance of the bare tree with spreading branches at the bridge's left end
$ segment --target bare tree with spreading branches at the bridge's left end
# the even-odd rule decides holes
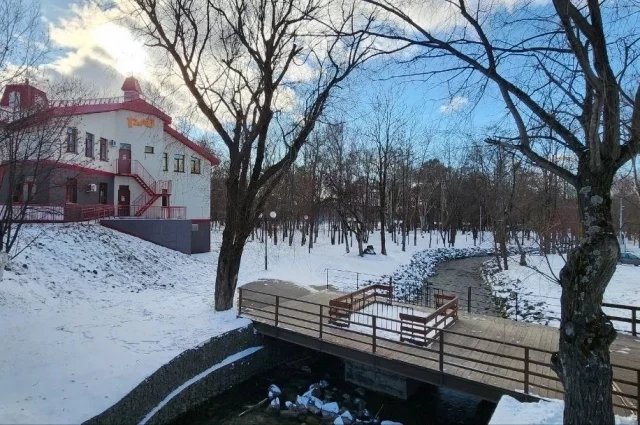
[[[149,45],[163,49],[229,151],[216,310],[233,305],[247,237],[331,94],[371,55],[352,26],[370,16],[325,0],[135,0]],[[343,34],[337,35],[334,27]],[[355,34],[355,35],[354,35]],[[277,143],[278,149],[269,150]],[[270,161],[266,157],[274,154]]]

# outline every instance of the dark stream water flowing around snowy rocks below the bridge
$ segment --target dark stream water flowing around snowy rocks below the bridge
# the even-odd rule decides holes
[[[375,415],[380,410],[381,420],[393,420],[404,425],[418,424],[486,424],[495,405],[481,401],[466,394],[425,385],[409,400],[364,391],[343,380],[343,367],[340,359],[321,356],[314,363],[280,366],[262,373],[249,381],[232,388],[230,391],[206,402],[186,415],[178,418],[175,424],[181,425],[307,425],[319,424],[318,417],[285,419],[267,412],[266,404],[239,417],[247,407],[258,403],[267,396],[269,385],[276,384],[282,390],[280,397],[295,401],[309,385],[326,379],[330,392],[340,406],[345,395],[350,399],[361,397],[366,401],[367,409]]]

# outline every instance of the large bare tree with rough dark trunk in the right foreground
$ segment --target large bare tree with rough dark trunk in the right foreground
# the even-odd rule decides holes
[[[490,143],[576,189],[584,237],[560,273],[560,344],[552,367],[566,391],[565,424],[613,424],[609,346],[616,332],[602,297],[619,256],[611,186],[640,144],[637,2],[553,0],[507,10],[451,0],[443,8],[448,21],[426,26],[414,18],[418,7],[364,1],[400,22],[373,33],[418,49],[423,66],[435,59],[437,69],[420,70],[424,78],[445,75],[467,88],[478,82],[497,90],[513,125]],[[572,165],[540,155],[541,140],[565,148]]]

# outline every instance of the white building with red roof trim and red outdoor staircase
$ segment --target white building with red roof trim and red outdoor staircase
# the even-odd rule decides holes
[[[102,217],[209,221],[211,167],[218,158],[171,127],[129,77],[123,96],[56,101],[29,82],[5,87],[0,126],[40,105],[69,116],[55,161],[22,161],[21,181],[0,183],[0,203],[29,202],[29,221]],[[0,158],[6,164],[7,158]],[[47,173],[34,172],[49,167]],[[0,168],[0,178],[3,171]],[[46,177],[45,177],[46,176]],[[46,209],[45,209],[46,208]]]

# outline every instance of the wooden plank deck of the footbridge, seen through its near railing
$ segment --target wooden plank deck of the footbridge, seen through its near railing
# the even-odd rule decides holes
[[[387,318],[387,328],[358,324],[356,331],[353,326],[333,326],[328,304],[336,295],[321,291],[292,299],[245,289],[241,290],[239,312],[267,335],[488,400],[497,401],[503,394],[525,400],[562,399],[562,384],[549,368],[551,354],[558,348],[556,328],[460,314],[453,326],[438,330],[429,344],[419,346],[400,342],[399,329],[389,327],[393,320]],[[636,414],[640,340],[619,335],[611,346],[611,360],[616,411]]]

